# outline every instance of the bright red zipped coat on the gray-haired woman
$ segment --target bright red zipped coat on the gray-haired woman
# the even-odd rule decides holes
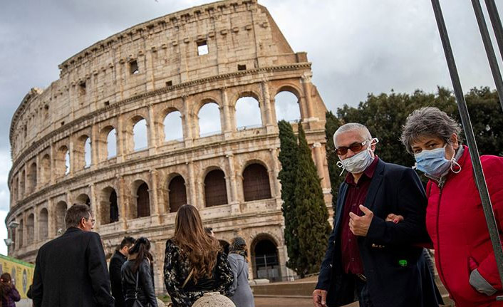
[[[480,160],[501,234],[503,157],[486,155]],[[496,301],[496,296],[503,294],[502,284],[467,147],[457,162],[461,172],[450,172],[442,188],[430,180],[426,189],[426,227],[435,248],[438,274],[456,307],[503,306]],[[478,266],[482,277],[498,290],[493,296],[479,293],[470,285],[470,258],[475,260],[472,266]]]

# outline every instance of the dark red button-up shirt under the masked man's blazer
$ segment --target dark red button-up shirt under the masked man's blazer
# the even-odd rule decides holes
[[[351,172],[348,172],[348,175],[346,175],[345,181],[349,187],[342,217],[341,259],[343,270],[348,274],[363,274],[363,263],[361,261],[360,249],[358,248],[358,238],[349,229],[349,212],[360,216],[363,215],[358,206],[365,203],[365,197],[367,197],[368,187],[370,187],[378,159],[375,156],[357,183],[355,183]]]

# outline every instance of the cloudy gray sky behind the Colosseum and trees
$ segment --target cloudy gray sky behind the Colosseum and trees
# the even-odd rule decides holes
[[[0,253],[9,210],[9,126],[33,87],[58,78],[58,64],[96,41],[204,0],[20,0],[0,10]],[[482,1],[483,2],[483,1]],[[294,51],[306,51],[328,109],[368,93],[452,88],[430,1],[259,0]],[[465,92],[494,88],[470,1],[443,0]],[[500,11],[503,1],[497,1]]]

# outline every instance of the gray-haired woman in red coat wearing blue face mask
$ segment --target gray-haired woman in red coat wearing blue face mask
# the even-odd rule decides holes
[[[430,178],[426,227],[435,248],[437,271],[458,307],[502,306],[502,284],[468,147],[460,125],[437,108],[411,113],[401,140],[416,167]],[[503,158],[480,157],[494,214],[503,229]]]

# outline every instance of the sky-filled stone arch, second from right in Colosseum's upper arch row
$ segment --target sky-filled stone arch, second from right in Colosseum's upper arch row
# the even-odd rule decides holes
[[[239,93],[233,104],[237,130],[259,128],[264,125],[260,100],[260,96],[253,91]]]

